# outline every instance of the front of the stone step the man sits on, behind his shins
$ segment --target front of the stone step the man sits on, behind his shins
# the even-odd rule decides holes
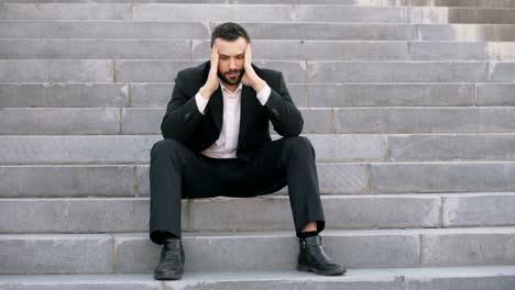
[[[326,228],[514,226],[515,193],[322,194]],[[0,199],[0,233],[123,233],[149,228],[149,198]],[[402,209],[402,210],[399,210]],[[295,231],[286,196],[183,200],[182,228]]]

